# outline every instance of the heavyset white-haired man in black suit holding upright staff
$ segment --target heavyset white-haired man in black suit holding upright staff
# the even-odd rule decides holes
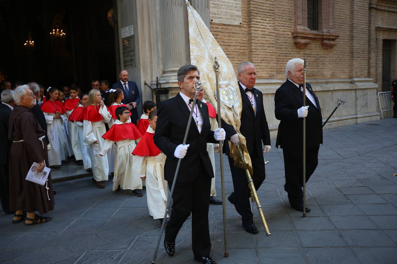
[[[285,167],[284,190],[291,207],[303,211],[303,117],[306,117],[306,182],[318,164],[322,144],[320,103],[306,82],[306,106],[303,106],[303,60],[291,59],[285,67],[287,80],[274,96],[274,114],[280,120],[276,147],[283,149]],[[306,207],[306,212],[310,208]]]

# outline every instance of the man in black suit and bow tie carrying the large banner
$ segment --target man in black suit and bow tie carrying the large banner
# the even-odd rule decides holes
[[[237,70],[239,74],[239,92],[243,99],[240,132],[247,142],[248,154],[252,162],[252,180],[254,180],[255,189],[258,190],[266,177],[263,154],[271,149],[270,132],[263,108],[262,92],[254,88],[256,82],[255,66],[251,62],[243,62],[240,63]],[[233,144],[240,144],[237,133],[233,130],[225,129],[227,139],[230,137]],[[262,142],[264,145],[263,149]],[[234,188],[234,192],[227,199],[235,206],[237,213],[241,215],[243,228],[251,234],[258,234],[251,211],[251,194],[245,171],[234,167],[234,160],[229,157],[227,144],[225,144],[225,154],[229,158]]]

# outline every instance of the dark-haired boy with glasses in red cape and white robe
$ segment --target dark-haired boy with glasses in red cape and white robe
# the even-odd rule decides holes
[[[141,132],[134,123],[127,122],[130,120],[129,111],[126,106],[119,106],[115,111],[118,119],[112,127],[102,137],[105,143],[99,153],[105,156],[108,150],[116,145],[117,155],[114,162],[113,190],[123,188],[132,191],[135,196],[143,196],[139,189],[142,189],[142,180],[138,175],[133,173],[132,164],[134,156],[132,152],[136,146],[135,140],[142,137]]]

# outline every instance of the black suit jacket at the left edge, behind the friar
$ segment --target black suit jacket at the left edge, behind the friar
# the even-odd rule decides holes
[[[8,123],[10,123],[11,109],[0,103],[0,165],[8,164],[11,141],[8,140]]]

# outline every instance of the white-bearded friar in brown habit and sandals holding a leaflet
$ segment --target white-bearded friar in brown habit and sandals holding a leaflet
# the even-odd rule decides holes
[[[54,194],[51,175],[48,175],[48,190],[45,185],[25,180],[33,164],[40,164],[38,172],[48,164],[47,142],[44,130],[32,114],[30,108],[36,104],[35,95],[29,86],[22,85],[14,90],[17,106],[11,112],[8,138],[12,141],[10,150],[10,209],[16,211],[13,222],[25,219],[25,224],[40,224],[51,220],[40,217],[54,209]],[[23,214],[27,210],[27,215]],[[25,218],[24,218],[25,217]]]

